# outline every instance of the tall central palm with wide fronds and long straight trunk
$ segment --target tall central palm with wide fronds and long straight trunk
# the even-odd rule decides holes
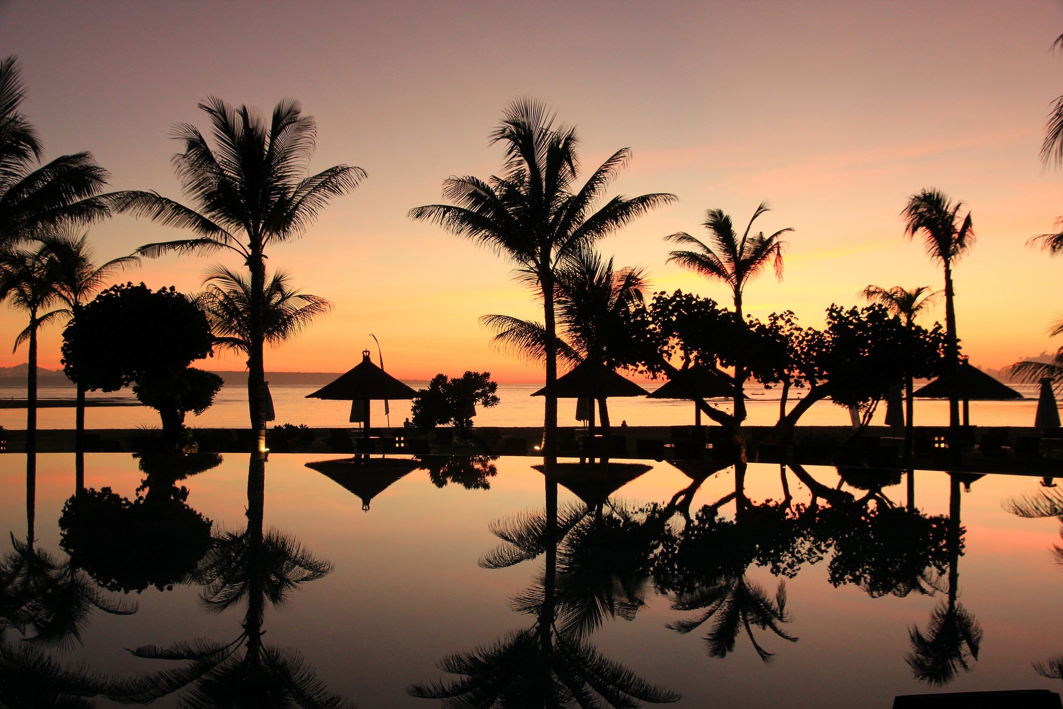
[[[557,333],[555,286],[558,266],[573,254],[620,230],[632,219],[675,201],[664,193],[613,197],[598,208],[605,189],[630,159],[622,148],[584,183],[575,184],[579,163],[573,128],[555,126],[554,115],[534,99],[506,107],[491,142],[505,148],[501,176],[487,181],[451,176],[443,196],[455,204],[429,204],[409,212],[505,255],[519,277],[542,298],[546,335],[546,406],[543,454],[557,451]]]

